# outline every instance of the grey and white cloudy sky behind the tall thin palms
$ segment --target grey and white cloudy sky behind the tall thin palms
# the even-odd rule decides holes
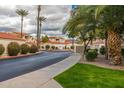
[[[36,33],[37,6],[0,6],[0,31],[20,31],[20,17],[15,13],[16,9],[25,9],[29,15],[24,18],[24,30],[27,33]],[[44,5],[41,9],[42,16],[47,19],[43,23],[42,30],[47,34],[61,34],[61,29],[70,14],[70,6]]]

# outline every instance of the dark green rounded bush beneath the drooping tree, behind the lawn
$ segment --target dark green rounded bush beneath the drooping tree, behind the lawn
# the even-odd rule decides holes
[[[97,58],[97,52],[94,51],[93,49],[90,49],[87,53],[86,53],[86,60],[87,61],[94,61]]]

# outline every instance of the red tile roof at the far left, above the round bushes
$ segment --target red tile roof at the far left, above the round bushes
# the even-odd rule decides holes
[[[0,38],[25,41],[24,39],[19,38],[12,33],[5,33],[5,32],[0,32]]]

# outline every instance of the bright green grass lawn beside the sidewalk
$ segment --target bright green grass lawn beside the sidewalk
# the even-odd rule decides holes
[[[124,88],[124,71],[76,64],[54,78],[65,88]]]

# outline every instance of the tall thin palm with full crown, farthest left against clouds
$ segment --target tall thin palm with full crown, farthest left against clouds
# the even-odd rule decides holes
[[[23,9],[17,9],[17,10],[16,10],[16,13],[17,13],[19,16],[21,16],[21,38],[22,38],[23,20],[24,20],[24,17],[27,16],[29,13],[28,13],[28,11],[23,10]]]

